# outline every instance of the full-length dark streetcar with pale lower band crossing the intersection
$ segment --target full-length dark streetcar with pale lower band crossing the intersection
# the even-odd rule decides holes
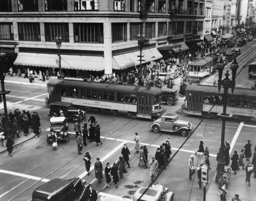
[[[153,119],[163,114],[162,90],[156,87],[51,79],[50,103],[68,102],[80,109],[124,112],[129,117]]]

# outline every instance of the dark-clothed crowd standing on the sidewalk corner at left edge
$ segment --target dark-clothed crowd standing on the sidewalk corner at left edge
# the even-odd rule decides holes
[[[15,137],[20,138],[20,133],[23,132],[24,136],[29,135],[29,129],[33,130],[35,137],[39,137],[40,129],[40,117],[37,112],[33,112],[31,115],[29,111],[19,108],[15,108],[14,111],[10,110],[8,116],[0,114],[0,136],[2,146],[7,146],[9,156],[12,156],[13,144]],[[8,131],[7,131],[8,130]]]

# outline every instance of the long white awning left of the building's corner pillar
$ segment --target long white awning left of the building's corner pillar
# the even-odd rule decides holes
[[[58,68],[58,56],[41,53],[18,53],[14,65]],[[61,68],[79,70],[104,70],[104,57],[61,55]]]

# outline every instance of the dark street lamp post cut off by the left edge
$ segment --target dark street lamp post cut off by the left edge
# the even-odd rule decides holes
[[[0,50],[0,61],[4,62],[6,61],[6,52],[5,50],[2,48]],[[0,95],[3,96],[3,103],[4,103],[4,111],[5,111],[5,132],[6,132],[6,137],[11,137],[12,136],[12,130],[10,128],[9,125],[9,120],[8,120],[8,112],[7,112],[7,105],[6,105],[6,97],[5,95],[10,93],[11,91],[6,91],[5,90],[5,76],[4,76],[4,72],[2,70],[3,68],[0,67],[0,80],[1,80],[1,86],[2,86],[2,91],[0,92]]]

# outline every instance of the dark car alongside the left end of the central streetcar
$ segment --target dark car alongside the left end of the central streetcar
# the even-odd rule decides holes
[[[77,120],[86,117],[86,113],[73,106],[72,103],[55,102],[50,104],[50,117],[65,116],[66,120]]]

